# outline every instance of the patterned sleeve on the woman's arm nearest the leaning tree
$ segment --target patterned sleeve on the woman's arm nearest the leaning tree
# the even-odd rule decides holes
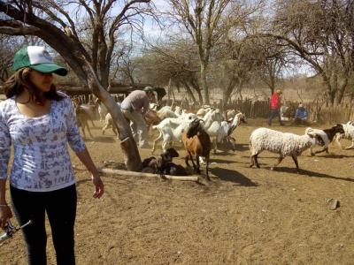
[[[64,99],[65,112],[66,112],[66,137],[69,142],[70,148],[75,153],[81,152],[86,148],[85,141],[80,135],[80,130],[76,124],[76,117],[73,112],[73,105],[69,97]]]

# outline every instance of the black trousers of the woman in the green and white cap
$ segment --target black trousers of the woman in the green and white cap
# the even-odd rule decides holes
[[[32,220],[22,230],[27,244],[28,264],[47,264],[45,212],[50,221],[57,264],[75,264],[73,225],[76,216],[76,186],[52,192],[27,192],[10,186],[12,208],[20,225]]]

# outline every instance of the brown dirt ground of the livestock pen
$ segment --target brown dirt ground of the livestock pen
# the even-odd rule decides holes
[[[77,264],[354,264],[354,150],[332,144],[329,155],[305,151],[298,159],[302,174],[289,157],[270,170],[277,155],[266,152],[261,169],[250,169],[250,133],[264,125],[249,120],[235,130],[237,150],[212,155],[209,184],[105,176],[104,197],[94,200],[89,174],[73,156]],[[304,127],[273,128],[304,133]],[[87,146],[96,164],[122,163],[112,131],[92,132]],[[184,165],[182,158],[175,162]],[[330,198],[340,207],[330,209]],[[55,264],[50,230],[48,236]],[[0,245],[0,261],[26,264],[19,234]]]

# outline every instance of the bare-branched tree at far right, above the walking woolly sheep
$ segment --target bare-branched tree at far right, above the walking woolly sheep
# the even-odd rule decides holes
[[[323,79],[330,104],[342,102],[354,70],[352,0],[279,0],[269,35],[289,46]]]

